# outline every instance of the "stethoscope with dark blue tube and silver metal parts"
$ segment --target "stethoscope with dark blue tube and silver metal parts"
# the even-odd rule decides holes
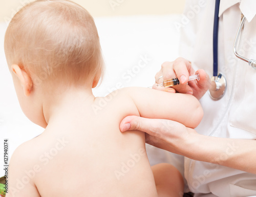
[[[218,74],[218,30],[219,30],[219,9],[220,9],[220,0],[216,0],[215,3],[215,16],[214,16],[214,45],[213,45],[213,52],[214,52],[214,75],[211,78],[211,87],[209,89],[209,94],[210,97],[214,100],[219,100],[221,99],[224,94],[226,93],[227,89],[227,81],[225,76],[222,74]],[[236,38],[234,39],[234,45],[233,45],[233,51],[234,54],[239,58],[242,59],[253,68],[256,69],[256,60],[254,59],[247,59],[241,55],[238,54],[237,52],[237,44],[238,44],[238,39],[241,36],[241,33],[244,29],[244,23],[245,23],[245,16],[242,14],[241,18],[241,23],[236,35]]]

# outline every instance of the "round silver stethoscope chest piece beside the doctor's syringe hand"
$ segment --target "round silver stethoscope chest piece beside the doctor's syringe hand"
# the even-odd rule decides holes
[[[209,88],[210,97],[214,100],[221,99],[227,89],[227,81],[222,74],[211,77],[211,85]]]

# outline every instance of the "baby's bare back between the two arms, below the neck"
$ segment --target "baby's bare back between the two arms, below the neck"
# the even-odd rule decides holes
[[[136,115],[136,107],[121,102],[74,114],[34,139],[41,147],[34,183],[42,197],[157,196],[144,133],[119,130],[122,118]]]

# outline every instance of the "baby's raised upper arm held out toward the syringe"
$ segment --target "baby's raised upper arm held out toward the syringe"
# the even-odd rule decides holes
[[[141,117],[174,120],[191,128],[202,120],[203,110],[194,96],[142,87],[131,87],[127,91]]]

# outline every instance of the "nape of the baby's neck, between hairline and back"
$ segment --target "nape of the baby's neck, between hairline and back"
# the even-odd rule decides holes
[[[47,124],[54,121],[56,117],[68,117],[90,107],[94,102],[92,89],[70,88],[61,93],[53,93],[46,96],[43,104],[43,112]]]

